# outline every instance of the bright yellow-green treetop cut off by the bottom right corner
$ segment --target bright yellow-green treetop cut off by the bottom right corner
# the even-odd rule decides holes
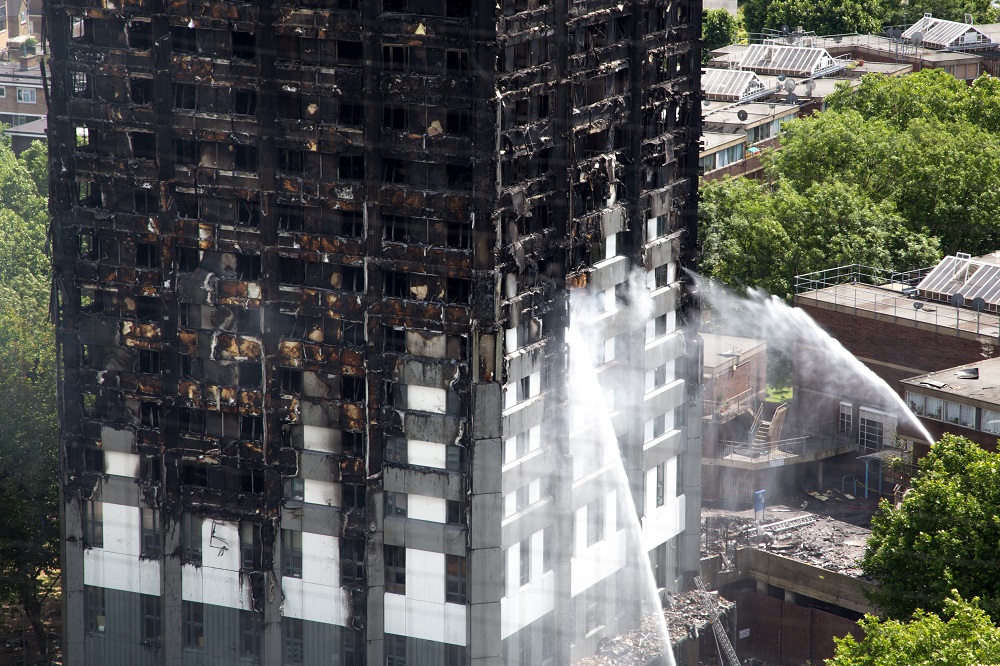
[[[910,622],[866,615],[865,632],[835,639],[826,666],[980,666],[1000,663],[1000,628],[977,604],[960,596],[944,600],[943,618],[917,611]]]

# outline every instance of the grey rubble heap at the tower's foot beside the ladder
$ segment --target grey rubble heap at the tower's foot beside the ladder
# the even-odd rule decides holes
[[[731,601],[714,594],[713,597],[716,609],[723,615],[735,607]],[[697,640],[702,634],[712,631],[709,609],[705,608],[697,590],[669,596],[663,616],[673,645],[685,638]],[[665,663],[658,661],[665,649],[658,625],[654,616],[647,615],[639,629],[605,638],[596,655],[575,662],[575,666],[648,666]]]

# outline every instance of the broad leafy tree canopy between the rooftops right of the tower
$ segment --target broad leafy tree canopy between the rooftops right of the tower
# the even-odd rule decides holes
[[[765,182],[703,183],[703,273],[788,296],[796,274],[844,263],[902,271],[997,249],[1000,81],[869,75],[828,103],[782,126]]]

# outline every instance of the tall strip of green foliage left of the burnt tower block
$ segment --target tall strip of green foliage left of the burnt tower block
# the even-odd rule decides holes
[[[38,149],[22,161],[0,140],[0,598],[21,606],[44,654],[41,604],[51,584],[43,574],[54,581],[59,566],[59,466],[40,163]]]

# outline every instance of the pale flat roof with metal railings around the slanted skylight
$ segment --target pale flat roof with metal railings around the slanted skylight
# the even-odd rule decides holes
[[[976,312],[939,301],[911,298],[903,285],[837,284],[795,295],[795,305],[808,305],[869,317],[963,338],[1000,337],[1000,315]]]

